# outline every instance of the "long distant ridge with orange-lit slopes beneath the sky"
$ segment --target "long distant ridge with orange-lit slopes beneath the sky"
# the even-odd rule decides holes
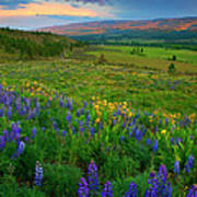
[[[197,32],[197,16],[175,18],[175,19],[154,19],[154,20],[111,20],[95,21],[86,23],[72,23],[60,26],[39,28],[40,32],[51,32],[60,35],[95,35],[107,34],[112,31],[189,31]]]

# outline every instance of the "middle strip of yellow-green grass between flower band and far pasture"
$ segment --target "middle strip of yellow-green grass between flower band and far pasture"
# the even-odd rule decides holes
[[[127,48],[123,49],[125,53],[119,54],[119,58],[124,61],[123,57],[128,55]],[[107,55],[108,59],[111,54]],[[118,55],[111,57],[119,60]],[[195,68],[194,65],[189,67]],[[65,92],[79,102],[97,95],[113,102],[130,101],[134,108],[146,111],[190,113],[197,109],[195,76],[169,76],[160,70],[147,70],[129,65],[104,66],[70,59],[5,63],[0,66],[0,82],[5,81],[7,84],[25,86],[30,83],[28,91],[36,81],[40,89],[37,85],[33,90],[38,94],[44,91],[46,95],[53,96],[56,91]]]

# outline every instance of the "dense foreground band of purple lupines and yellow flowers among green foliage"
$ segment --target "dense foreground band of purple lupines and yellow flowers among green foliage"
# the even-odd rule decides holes
[[[33,97],[0,85],[0,192],[13,188],[11,196],[32,188],[48,196],[196,195],[195,114],[140,112],[94,96]]]

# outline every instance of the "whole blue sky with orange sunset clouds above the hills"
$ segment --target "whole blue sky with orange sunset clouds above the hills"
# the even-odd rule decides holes
[[[22,30],[183,16],[197,16],[197,0],[0,0],[0,26]]]

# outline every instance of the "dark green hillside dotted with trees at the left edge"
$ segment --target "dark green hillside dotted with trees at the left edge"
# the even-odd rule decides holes
[[[78,42],[51,33],[0,28],[1,61],[3,59],[40,59],[62,56],[76,45]]]

